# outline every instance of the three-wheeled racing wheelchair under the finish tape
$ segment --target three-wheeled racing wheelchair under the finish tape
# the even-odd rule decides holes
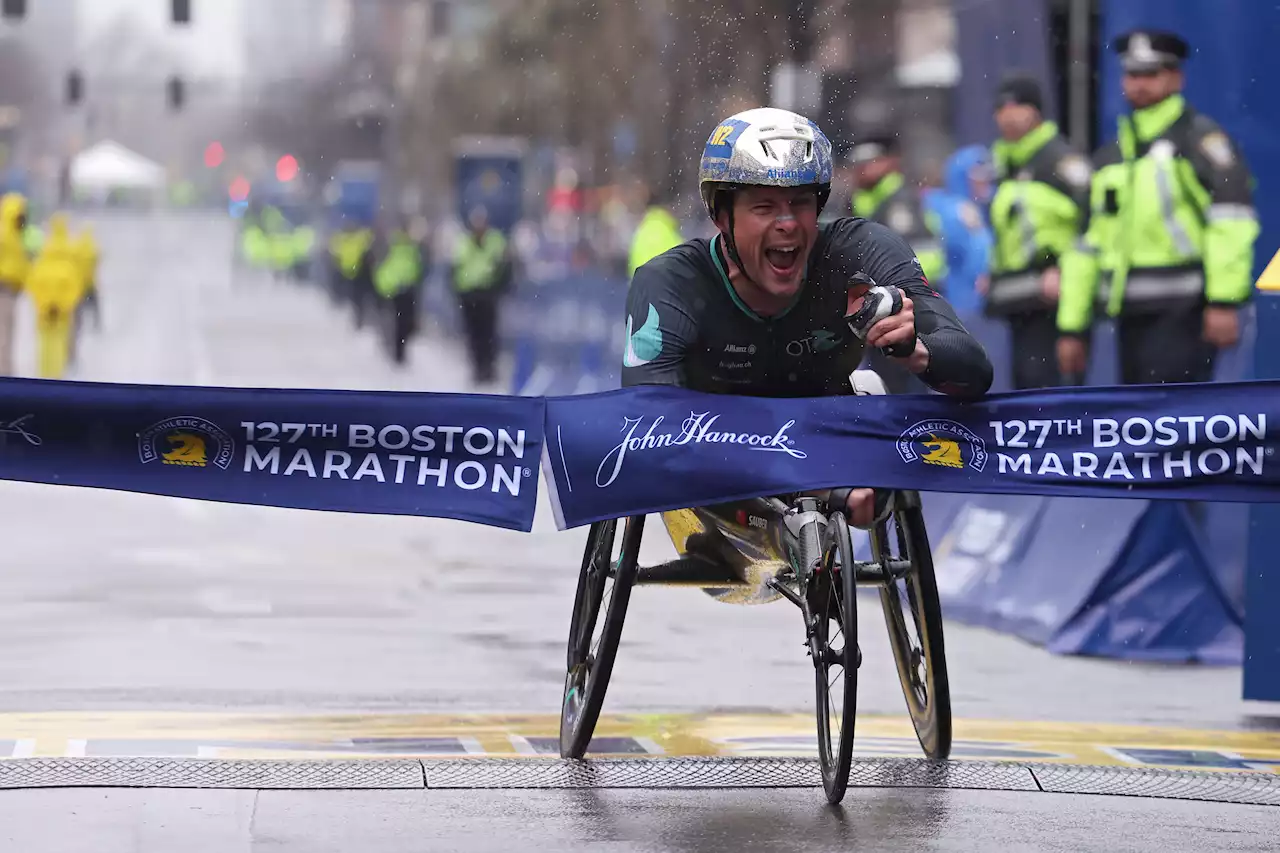
[[[855,393],[884,393],[874,373],[860,370],[851,379]],[[561,756],[581,758],[591,742],[634,587],[696,587],[735,605],[786,599],[800,610],[814,666],[823,789],[828,802],[841,802],[852,762],[861,663],[855,593],[869,585],[879,588],[920,747],[929,758],[947,758],[951,694],[920,496],[893,492],[890,511],[868,532],[868,561],[855,558],[844,512],[828,516],[822,507],[819,497],[801,493],[663,512],[680,556],[655,566],[637,562],[645,516],[593,524],[570,624]]]

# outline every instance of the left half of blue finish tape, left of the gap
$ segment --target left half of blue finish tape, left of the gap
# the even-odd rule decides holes
[[[529,532],[535,397],[0,380],[0,478]]]

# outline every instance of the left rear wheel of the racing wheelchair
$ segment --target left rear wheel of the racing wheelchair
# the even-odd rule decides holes
[[[586,754],[595,724],[600,719],[618,642],[622,639],[622,622],[627,615],[631,587],[636,578],[644,520],[643,515],[626,519],[622,552],[616,562],[611,560],[611,555],[617,521],[598,521],[588,533],[582,569],[577,578],[577,594],[573,598],[573,616],[570,621],[564,695],[561,702],[562,758],[581,758]],[[593,654],[591,635],[600,620],[611,564],[613,585],[604,612],[600,643]]]

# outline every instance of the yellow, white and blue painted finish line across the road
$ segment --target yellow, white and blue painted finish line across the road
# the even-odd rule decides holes
[[[955,761],[1280,772],[1280,733],[956,720]],[[817,756],[810,715],[603,716],[593,756]],[[860,758],[916,758],[905,717],[859,717]],[[550,715],[0,713],[0,756],[465,758],[559,754]],[[3,761],[4,758],[0,758]]]

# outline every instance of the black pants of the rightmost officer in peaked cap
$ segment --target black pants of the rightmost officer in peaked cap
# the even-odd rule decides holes
[[[1202,338],[1203,327],[1204,310],[1199,306],[1121,316],[1120,382],[1212,382],[1217,348]]]

